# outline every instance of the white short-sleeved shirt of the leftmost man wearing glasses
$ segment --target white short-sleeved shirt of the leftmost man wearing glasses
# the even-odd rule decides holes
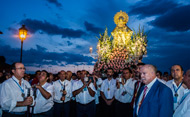
[[[16,107],[16,104],[17,102],[24,101],[20,87],[24,90],[25,97],[27,97],[28,88],[30,88],[31,96],[33,94],[31,86],[23,78],[21,79],[21,86],[19,85],[19,87],[18,85],[19,80],[15,76],[2,83],[0,90],[0,105],[2,110],[9,112],[25,112],[27,110],[27,106]]]

